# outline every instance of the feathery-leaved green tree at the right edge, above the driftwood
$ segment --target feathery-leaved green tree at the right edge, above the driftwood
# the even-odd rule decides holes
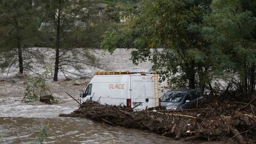
[[[213,1],[205,17],[204,38],[216,49],[220,69],[238,73],[238,91],[255,91],[256,3],[252,1]]]

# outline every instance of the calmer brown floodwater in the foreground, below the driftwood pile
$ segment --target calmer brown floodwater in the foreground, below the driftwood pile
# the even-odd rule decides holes
[[[45,124],[49,124],[48,136],[44,139],[47,143],[167,143],[172,141],[152,133],[111,127],[87,119],[0,117],[1,142],[34,142],[40,136],[40,129]]]

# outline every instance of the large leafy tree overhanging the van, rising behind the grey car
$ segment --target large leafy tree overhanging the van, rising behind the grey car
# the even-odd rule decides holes
[[[124,9],[126,25],[107,31],[102,46],[110,52],[118,44],[136,47],[132,52],[134,63],[151,60],[153,69],[162,73],[163,79],[179,84],[178,87],[195,88],[199,79],[203,91],[213,69],[213,59],[207,55],[209,43],[201,35],[210,2],[143,0],[130,5]]]

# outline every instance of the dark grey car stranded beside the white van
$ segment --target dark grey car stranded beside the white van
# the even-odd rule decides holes
[[[162,95],[161,106],[167,110],[182,110],[189,108],[191,104],[197,104],[201,98],[203,95],[196,89],[178,89]]]

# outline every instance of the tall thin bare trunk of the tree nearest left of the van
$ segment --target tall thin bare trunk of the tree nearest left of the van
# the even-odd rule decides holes
[[[59,1],[60,4],[60,1]],[[57,81],[57,74],[59,71],[59,49],[60,49],[60,11],[57,15],[57,35],[56,35],[56,53],[55,53],[55,73],[53,81]]]

